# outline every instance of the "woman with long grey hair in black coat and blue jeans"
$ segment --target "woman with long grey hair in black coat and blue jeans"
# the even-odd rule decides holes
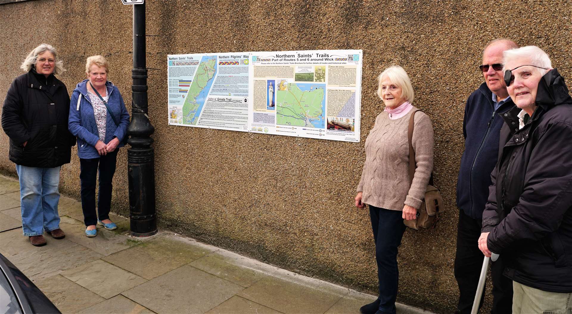
[[[12,82],[2,108],[2,128],[10,138],[9,157],[20,182],[23,234],[31,244],[46,244],[43,232],[63,239],[59,228],[59,170],[70,162],[74,136],[67,130],[70,98],[54,74],[62,61],[51,45],[30,51]]]

